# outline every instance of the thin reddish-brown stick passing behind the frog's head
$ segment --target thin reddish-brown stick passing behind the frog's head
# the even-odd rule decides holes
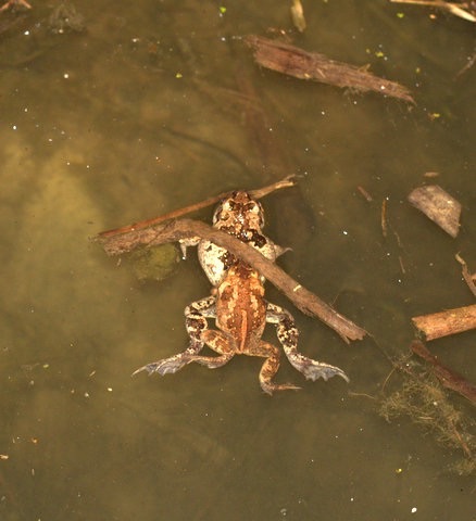
[[[296,177],[297,176],[288,176],[281,179],[280,181],[273,182],[267,187],[259,188],[256,190],[249,190],[249,194],[254,199],[261,199],[267,195],[275,190],[280,190],[281,188],[293,187],[296,185]],[[184,206],[183,208],[174,209],[173,212],[168,212],[167,214],[160,215],[159,217],[152,217],[151,219],[140,220],[138,223],[134,223],[133,225],[123,226],[122,228],[114,228],[113,230],[107,230],[99,233],[101,238],[109,238],[114,237],[121,233],[127,233],[129,231],[137,231],[143,228],[149,228],[154,225],[159,225],[166,220],[176,219],[177,217],[181,217],[183,215],[190,214],[191,212],[197,212],[198,209],[205,208],[206,206],[211,206],[212,204],[217,203],[222,199],[228,196],[230,192],[223,192],[218,195],[213,195],[212,198],[205,199],[204,201],[200,201],[199,203],[190,204],[189,206]]]

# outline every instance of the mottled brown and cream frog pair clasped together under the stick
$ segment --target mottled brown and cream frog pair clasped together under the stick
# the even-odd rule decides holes
[[[213,227],[229,233],[258,250],[273,263],[287,249],[275,244],[262,229],[264,211],[261,203],[243,190],[224,198],[213,214]],[[188,347],[176,355],[147,364],[134,374],[147,371],[161,376],[175,373],[190,363],[215,369],[227,364],[235,355],[264,358],[259,382],[264,393],[298,390],[292,383],[276,383],[280,365],[280,351],[262,340],[266,323],[276,327],[277,339],[292,367],[305,379],[327,381],[334,376],[346,382],[346,372],[329,364],[314,360],[298,351],[299,331],[292,315],[264,297],[264,277],[254,268],[237,258],[226,249],[198,237],[181,241],[183,254],[187,247],[198,246],[200,265],[212,284],[209,296],[192,302],[185,308],[185,326],[190,339]],[[216,329],[209,328],[215,320]],[[204,346],[216,353],[202,355]]]

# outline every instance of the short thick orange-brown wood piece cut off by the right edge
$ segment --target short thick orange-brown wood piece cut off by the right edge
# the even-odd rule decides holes
[[[413,317],[412,321],[428,341],[462,333],[476,329],[476,304]]]

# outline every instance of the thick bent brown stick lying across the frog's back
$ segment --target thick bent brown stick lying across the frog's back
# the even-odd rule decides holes
[[[108,255],[120,255],[129,252],[138,245],[163,244],[183,239],[200,237],[223,246],[260,271],[278,290],[306,315],[320,318],[333,328],[347,343],[351,340],[362,340],[366,331],[348,318],[343,317],[328,304],[291,279],[283,269],[261,255],[260,252],[241,242],[235,237],[216,230],[204,223],[191,219],[172,220],[162,225],[127,233],[104,237],[97,240],[102,243]]]

